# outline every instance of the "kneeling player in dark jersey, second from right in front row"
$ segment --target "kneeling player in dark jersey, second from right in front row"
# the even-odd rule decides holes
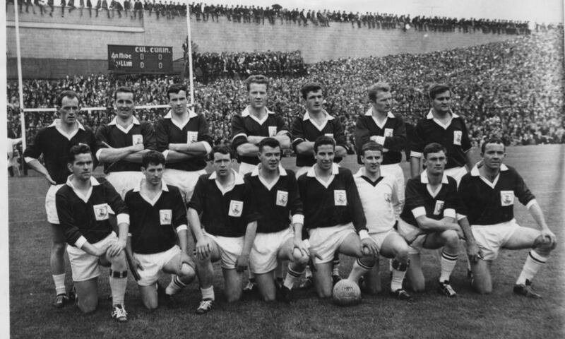
[[[449,278],[457,263],[459,238],[465,236],[468,250],[476,248],[476,245],[472,243],[468,224],[464,226],[462,223],[460,227],[456,222],[456,209],[459,207],[457,182],[444,175],[446,162],[444,146],[439,143],[426,145],[426,170],[406,184],[406,201],[398,220],[398,230],[411,243],[408,279],[412,290],[424,290],[420,251],[443,247],[438,290],[447,297],[455,297],[457,293],[449,284]],[[414,239],[412,234],[418,231],[422,234]]]

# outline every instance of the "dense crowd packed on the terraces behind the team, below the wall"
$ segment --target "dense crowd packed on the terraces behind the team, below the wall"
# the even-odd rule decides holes
[[[326,110],[339,117],[352,144],[355,119],[368,107],[369,85],[391,83],[393,111],[415,124],[429,110],[424,95],[427,83],[441,81],[452,85],[454,112],[467,121],[475,145],[490,136],[500,136],[507,145],[564,143],[562,49],[563,30],[555,30],[429,54],[323,61],[309,65],[304,76],[271,73],[268,107],[290,123],[304,109],[300,85],[319,81],[325,86]],[[83,95],[83,107],[108,107],[83,113],[83,123],[96,129],[112,118],[111,95],[117,86],[133,87],[138,105],[165,105],[167,87],[175,81],[178,79],[170,76],[110,78],[102,74],[28,80],[24,82],[24,107],[55,107],[55,93],[76,90]],[[215,143],[229,141],[230,120],[247,102],[244,84],[238,78],[195,83],[194,109],[208,117]],[[54,114],[26,113],[27,140],[50,124]],[[137,114],[155,121],[165,109],[139,109]],[[20,134],[18,88],[13,81],[8,82],[8,129]]]

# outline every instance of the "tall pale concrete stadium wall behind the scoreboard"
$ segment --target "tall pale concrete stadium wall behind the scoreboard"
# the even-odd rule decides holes
[[[68,74],[107,72],[107,44],[173,47],[173,60],[182,58],[186,38],[186,18],[167,20],[155,13],[132,20],[122,13],[107,18],[100,11],[90,18],[88,10],[65,13],[56,7],[54,16],[20,13],[20,49],[24,78],[59,78]],[[302,51],[308,64],[338,58],[426,53],[468,47],[513,38],[460,32],[417,32],[415,30],[369,30],[352,28],[350,23],[331,27],[283,24],[255,25],[232,23],[220,17],[219,23],[191,18],[192,40],[198,52]],[[6,11],[6,51],[8,78],[17,77],[16,29],[13,6]],[[175,67],[179,69],[179,67]]]

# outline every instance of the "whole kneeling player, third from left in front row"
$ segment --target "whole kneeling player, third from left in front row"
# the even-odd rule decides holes
[[[251,187],[232,169],[234,159],[230,148],[215,146],[211,155],[214,172],[198,178],[189,203],[202,292],[196,314],[205,314],[213,307],[213,261],[222,262],[227,301],[234,302],[242,296],[242,272],[249,263],[259,218]]]

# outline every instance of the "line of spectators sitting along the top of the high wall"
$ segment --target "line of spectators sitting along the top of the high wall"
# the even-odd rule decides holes
[[[6,1],[13,3],[14,0]],[[98,16],[102,12],[107,18],[143,18],[143,16],[156,16],[172,20],[176,17],[186,17],[186,5],[179,1],[150,1],[150,0],[18,0],[19,11],[26,13],[38,13],[44,16],[46,13],[53,16],[55,7],[59,6],[61,16],[65,15],[65,10],[79,11],[80,15],[90,17]],[[49,8],[47,8],[49,7]],[[353,13],[350,11],[332,11],[329,9],[305,10],[299,8],[283,8],[275,4],[273,6],[228,6],[203,4],[192,2],[189,4],[191,17],[197,21],[212,20],[219,21],[220,16],[227,18],[233,23],[255,23],[256,25],[270,25],[280,23],[280,25],[316,25],[329,27],[331,23],[351,23],[352,28],[368,29],[402,29],[414,28],[420,31],[439,31],[439,32],[484,32],[493,34],[529,34],[530,23],[528,21],[501,20],[486,18],[448,18],[441,16],[415,16],[410,18],[409,14],[398,15],[393,13],[365,12]],[[124,15],[122,16],[122,12]],[[535,30],[547,30],[555,28],[555,25],[545,25],[535,23]]]

